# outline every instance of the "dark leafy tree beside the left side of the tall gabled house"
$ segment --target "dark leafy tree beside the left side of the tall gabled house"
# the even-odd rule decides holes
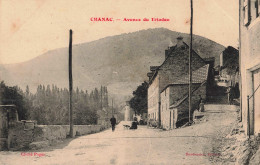
[[[147,89],[148,83],[144,81],[137,89],[133,92],[134,97],[130,100],[130,107],[135,111],[136,114],[147,113]]]

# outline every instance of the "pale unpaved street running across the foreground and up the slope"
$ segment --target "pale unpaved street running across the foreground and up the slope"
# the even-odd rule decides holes
[[[0,164],[221,164],[218,140],[236,122],[235,110],[206,110],[198,124],[170,131],[138,126],[80,136],[39,151],[0,152]]]

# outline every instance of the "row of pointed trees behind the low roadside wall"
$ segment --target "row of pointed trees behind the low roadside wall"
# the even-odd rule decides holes
[[[102,87],[103,105],[108,100],[107,89]],[[100,109],[101,90],[97,88],[90,91],[73,90],[74,123],[96,124],[97,111]],[[37,120],[38,124],[68,124],[68,89],[59,89],[56,85],[38,85],[35,94],[30,93],[27,85],[25,92],[19,87],[8,87],[4,82],[0,83],[0,104],[15,104],[20,120]]]

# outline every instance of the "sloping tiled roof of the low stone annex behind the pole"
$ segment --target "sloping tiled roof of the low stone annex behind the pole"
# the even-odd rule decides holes
[[[202,83],[208,78],[209,64],[192,72],[192,83]],[[172,84],[189,84],[189,75],[180,77],[177,81]]]

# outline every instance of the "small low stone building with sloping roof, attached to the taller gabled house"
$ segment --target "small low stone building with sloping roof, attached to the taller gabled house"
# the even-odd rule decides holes
[[[192,72],[191,115],[198,109],[200,98],[206,99],[209,64]],[[189,118],[189,75],[167,85],[161,92],[161,126],[164,129],[176,128],[177,122]]]

